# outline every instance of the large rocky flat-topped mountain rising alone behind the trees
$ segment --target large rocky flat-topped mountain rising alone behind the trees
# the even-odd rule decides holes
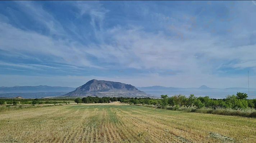
[[[145,97],[148,95],[145,92],[138,90],[131,84],[92,79],[88,81],[86,84],[78,87],[73,92],[65,94],[65,96]]]

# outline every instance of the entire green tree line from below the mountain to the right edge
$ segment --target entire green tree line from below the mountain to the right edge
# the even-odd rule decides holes
[[[256,109],[256,99],[247,99],[248,95],[246,93],[238,92],[236,95],[227,95],[224,99],[211,99],[209,96],[205,97],[195,97],[194,94],[186,97],[185,95],[174,95],[168,97],[168,95],[161,95],[161,99],[152,98],[123,98],[123,97],[84,97],[76,98],[76,103],[108,103],[109,101],[120,101],[122,103],[129,104],[147,104],[155,105],[165,108],[166,106],[176,107],[176,108],[191,108],[195,107],[197,109],[201,108],[231,108],[231,109],[246,109],[255,108]]]

